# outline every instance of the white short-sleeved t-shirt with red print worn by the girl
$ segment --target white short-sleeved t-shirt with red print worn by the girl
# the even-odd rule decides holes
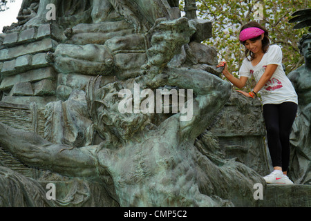
[[[249,78],[254,75],[256,82],[258,82],[269,64],[277,64],[278,67],[267,84],[258,92],[261,94],[263,104],[281,104],[283,102],[298,104],[298,96],[294,86],[292,86],[292,82],[288,79],[282,67],[282,50],[279,46],[269,46],[256,66],[253,66],[252,62],[245,58],[239,71],[240,77]]]

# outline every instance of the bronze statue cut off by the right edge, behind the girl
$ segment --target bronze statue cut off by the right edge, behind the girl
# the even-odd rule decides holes
[[[305,64],[288,74],[299,99],[299,113],[293,125],[290,142],[293,148],[291,171],[300,184],[311,182],[311,34],[303,35],[299,50]]]

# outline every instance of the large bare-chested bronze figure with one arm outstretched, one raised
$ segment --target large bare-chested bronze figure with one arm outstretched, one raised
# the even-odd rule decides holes
[[[115,82],[100,87],[100,78],[96,78],[88,85],[87,99],[104,143],[68,150],[35,133],[0,124],[1,146],[41,169],[95,180],[111,176],[120,206],[215,206],[214,200],[198,191],[194,140],[225,104],[230,85],[203,71],[196,71],[195,79],[186,72],[170,72],[167,84],[185,87],[186,80],[197,96],[189,101],[194,102],[189,122],[180,122],[176,114],[157,126],[149,115],[120,114],[118,93],[131,88],[133,80],[127,85]]]

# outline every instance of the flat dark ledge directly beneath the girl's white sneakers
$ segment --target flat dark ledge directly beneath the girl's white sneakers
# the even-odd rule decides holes
[[[262,201],[264,207],[310,207],[311,185],[267,184]]]

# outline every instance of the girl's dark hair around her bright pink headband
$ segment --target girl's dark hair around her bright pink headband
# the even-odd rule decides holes
[[[240,33],[245,29],[245,28],[252,28],[252,27],[256,27],[256,28],[260,28],[261,30],[264,30],[265,33],[263,35],[263,40],[262,40],[262,44],[263,44],[263,52],[267,52],[267,49],[269,48],[270,46],[270,39],[269,39],[269,32],[267,31],[267,29],[265,29],[263,26],[261,26],[260,23],[256,22],[256,21],[250,21],[249,23],[245,24],[241,30],[240,30]],[[261,39],[261,35],[259,35],[258,37],[254,37],[253,39],[249,39],[250,41],[256,41],[258,39]],[[241,44],[243,44],[243,46],[245,45],[245,42],[246,41],[240,41]],[[249,61],[248,59],[248,56],[251,57],[251,61],[255,58],[254,56],[254,53],[251,52],[250,50],[246,49],[245,50],[245,57],[247,58],[247,60]]]

